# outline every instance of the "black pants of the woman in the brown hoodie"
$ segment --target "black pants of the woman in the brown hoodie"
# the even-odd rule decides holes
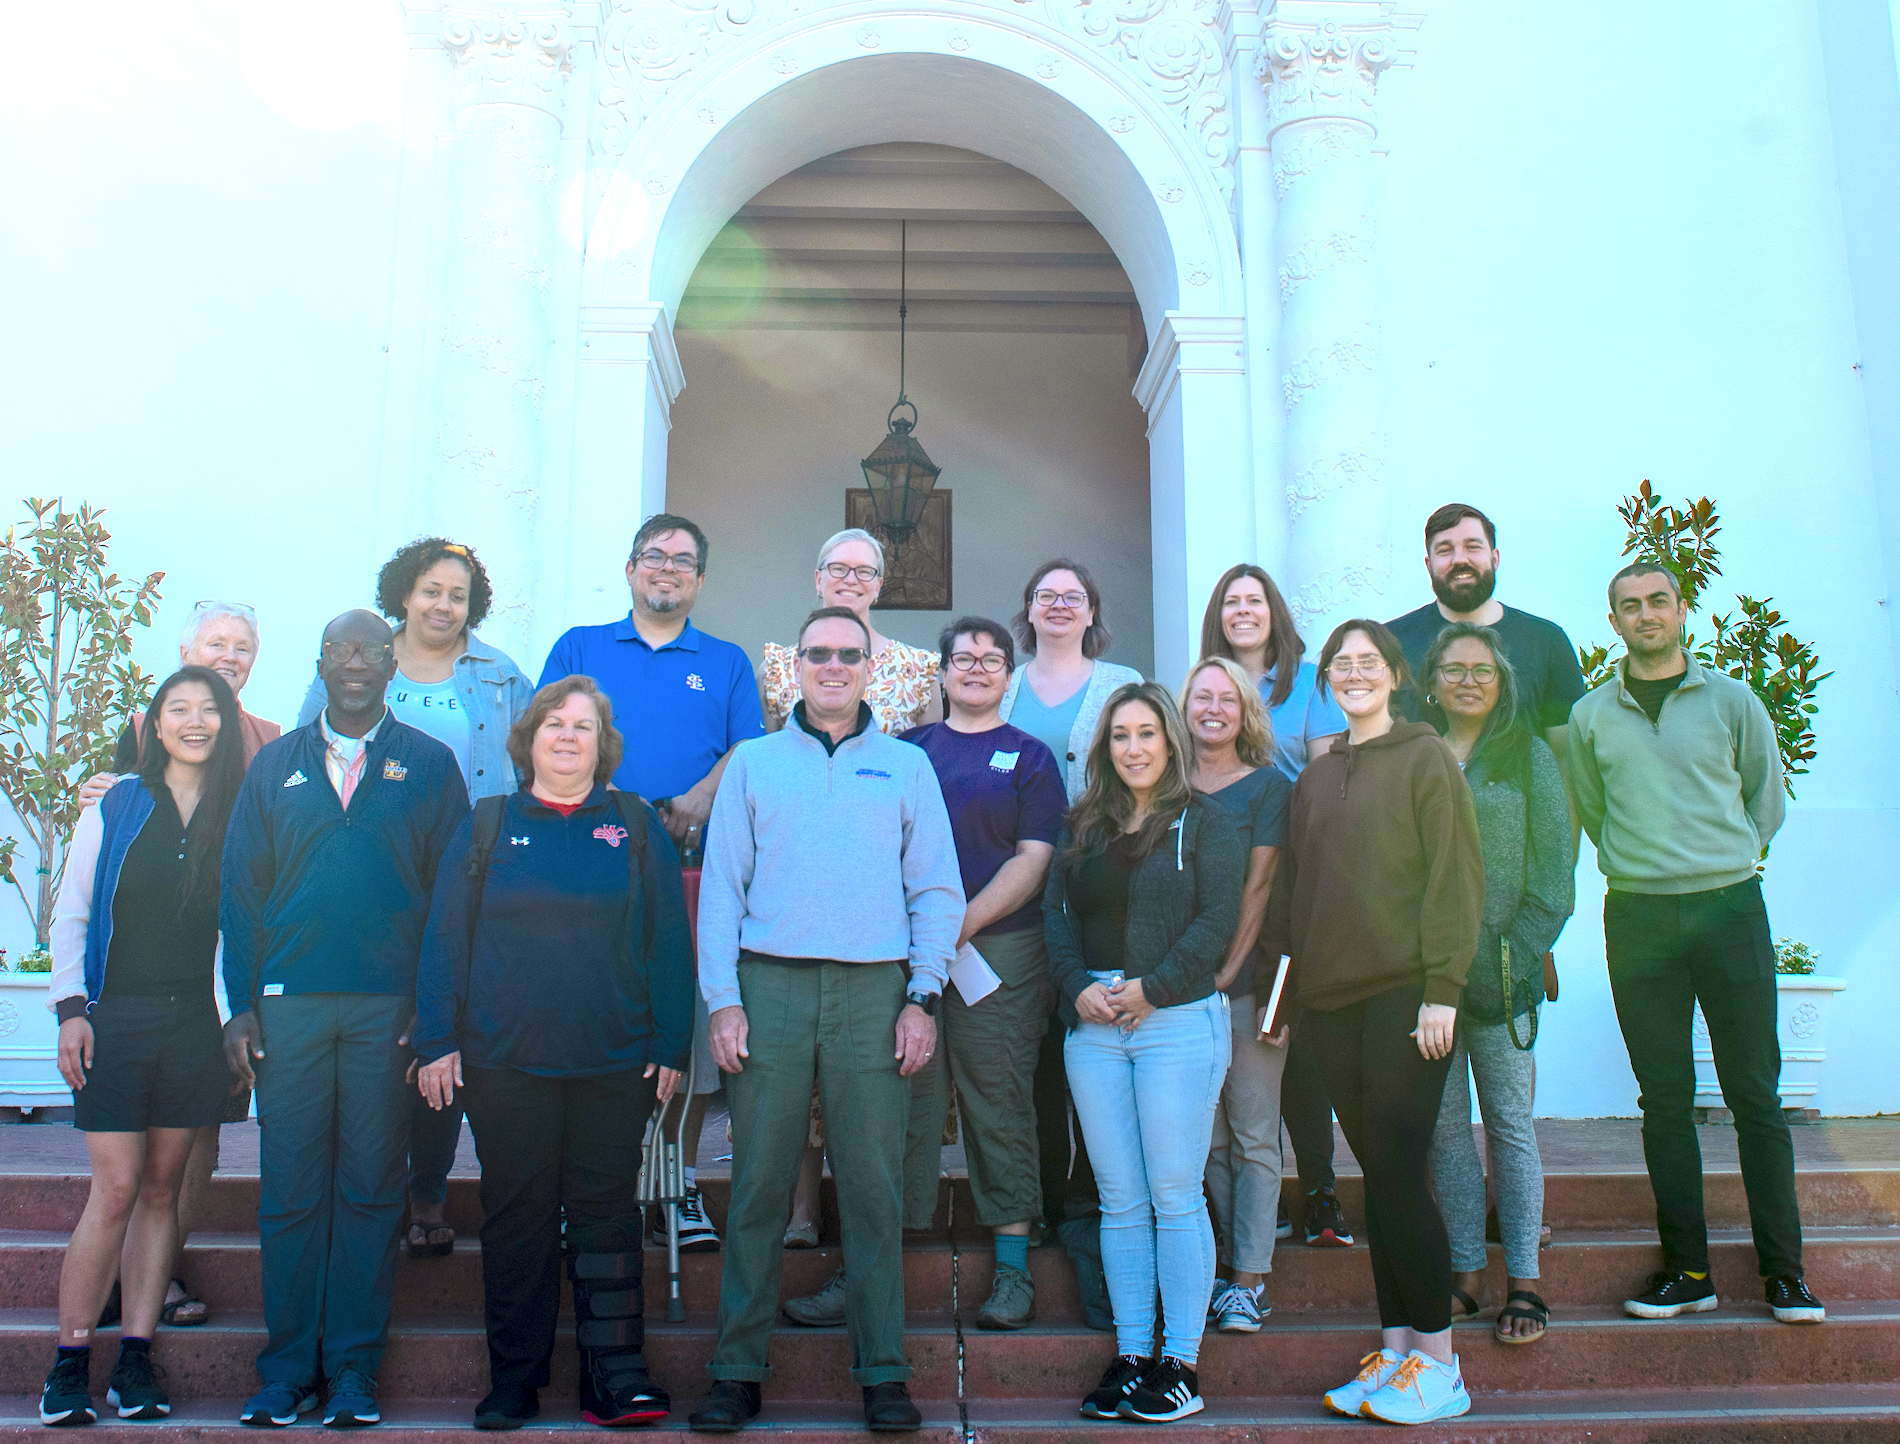
[[[1366,1237],[1379,1328],[1452,1326],[1452,1244],[1431,1191],[1431,1136],[1452,1070],[1419,1053],[1419,982],[1364,1003],[1307,1011],[1303,1032],[1326,1074],[1345,1142],[1366,1174]]]

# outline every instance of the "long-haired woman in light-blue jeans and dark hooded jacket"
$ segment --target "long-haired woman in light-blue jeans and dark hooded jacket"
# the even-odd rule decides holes
[[[1092,1419],[1159,1423],[1203,1408],[1214,1227],[1201,1174],[1233,1045],[1214,975],[1241,920],[1246,853],[1220,804],[1195,796],[1191,766],[1167,688],[1117,688],[1043,893],[1115,1315],[1117,1358],[1081,1404]]]

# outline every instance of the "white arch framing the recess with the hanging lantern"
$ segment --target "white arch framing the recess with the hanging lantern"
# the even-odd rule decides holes
[[[908,141],[975,150],[1064,196],[1108,239],[1142,314],[1155,669],[1178,676],[1206,585],[1254,551],[1241,274],[1195,144],[1079,40],[996,11],[855,13],[735,51],[667,99],[589,230],[574,517],[665,502],[686,376],[673,317],[707,245],[781,175]],[[872,437],[874,439],[874,437]],[[1239,545],[1237,545],[1239,543]],[[614,576],[614,538],[572,530],[570,576]],[[576,581],[570,614],[597,604]]]

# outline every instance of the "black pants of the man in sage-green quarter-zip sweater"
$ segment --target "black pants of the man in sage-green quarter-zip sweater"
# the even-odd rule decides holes
[[[1801,1275],[1794,1140],[1780,1112],[1775,942],[1761,884],[1604,899],[1609,992],[1642,1087],[1644,1163],[1670,1269],[1708,1269],[1702,1150],[1695,1138],[1691,1020],[1702,1003],[1721,1100],[1735,1113],[1761,1277]]]

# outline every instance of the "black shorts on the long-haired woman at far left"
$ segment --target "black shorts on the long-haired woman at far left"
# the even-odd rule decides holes
[[[72,1094],[72,1127],[144,1132],[224,1119],[232,1072],[209,996],[101,998],[87,1016],[93,1066]]]

